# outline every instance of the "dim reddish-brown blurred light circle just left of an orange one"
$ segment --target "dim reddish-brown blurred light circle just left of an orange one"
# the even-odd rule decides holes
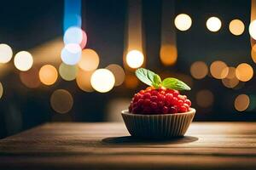
[[[38,88],[41,84],[38,68],[32,67],[29,71],[20,71],[20,81],[27,88]]]

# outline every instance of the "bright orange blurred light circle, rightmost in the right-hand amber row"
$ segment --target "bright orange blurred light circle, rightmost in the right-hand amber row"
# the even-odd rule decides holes
[[[247,63],[241,63],[236,67],[236,77],[241,82],[247,82],[253,78],[253,67]]]

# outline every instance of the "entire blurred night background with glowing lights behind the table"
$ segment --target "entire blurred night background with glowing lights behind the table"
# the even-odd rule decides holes
[[[119,122],[177,77],[195,121],[255,121],[255,0],[1,1],[0,138],[44,122]]]

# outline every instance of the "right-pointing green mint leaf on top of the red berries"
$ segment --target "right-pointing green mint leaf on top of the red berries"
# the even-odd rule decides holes
[[[191,89],[185,82],[182,82],[177,78],[166,78],[165,80],[163,80],[161,85],[165,88],[171,88],[174,90],[190,90]]]

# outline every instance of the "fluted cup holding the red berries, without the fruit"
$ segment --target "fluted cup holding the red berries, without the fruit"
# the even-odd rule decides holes
[[[149,139],[171,139],[182,137],[195,116],[195,109],[174,114],[132,114],[122,111],[127,130],[131,136]]]

